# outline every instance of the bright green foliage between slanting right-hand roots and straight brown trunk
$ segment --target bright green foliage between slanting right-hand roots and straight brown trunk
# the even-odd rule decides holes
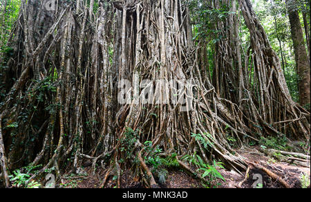
[[[292,6],[299,8],[301,11],[305,10],[307,14],[310,12],[310,1],[309,3],[303,0],[295,2],[295,5]],[[256,1],[253,5],[258,19],[261,21],[263,28],[265,28],[272,48],[280,58],[292,99],[295,102],[299,102],[299,77],[296,73],[296,62],[290,33],[290,20],[285,2],[281,0]],[[247,40],[249,40],[249,37],[247,37]]]

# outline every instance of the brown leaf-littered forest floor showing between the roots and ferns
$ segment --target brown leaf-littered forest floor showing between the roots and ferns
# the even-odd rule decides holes
[[[245,148],[237,150],[238,154],[243,156],[249,163],[255,163],[261,165],[271,172],[283,178],[290,187],[300,188],[301,181],[300,176],[302,173],[310,176],[310,167],[301,167],[299,165],[283,163],[258,152],[258,148]],[[98,188],[102,187],[101,181],[104,178],[104,171],[98,170],[95,175],[92,174],[91,166],[84,168],[84,176],[68,177],[63,178],[60,183],[60,187],[77,187],[77,188]],[[218,172],[223,175],[225,181],[218,181],[218,188],[238,188],[239,183],[245,179],[246,172],[239,174],[234,170],[218,169]],[[262,177],[263,188],[283,188],[284,186],[278,181],[278,179],[271,178],[262,169],[251,166],[249,173],[247,174],[247,180],[241,185],[241,188],[252,188],[256,182],[256,178],[253,179],[254,175],[258,174]],[[189,174],[183,172],[180,169],[171,169],[167,176],[165,184],[160,184],[162,188],[204,188],[199,179],[189,176]],[[113,188],[115,187],[115,181],[110,178],[104,187]],[[122,188],[143,188],[138,178],[133,177],[129,170],[126,170],[122,174],[120,180],[120,186]],[[256,185],[255,185],[256,186]],[[211,187],[215,187],[211,185]],[[310,186],[309,186],[310,187]]]

